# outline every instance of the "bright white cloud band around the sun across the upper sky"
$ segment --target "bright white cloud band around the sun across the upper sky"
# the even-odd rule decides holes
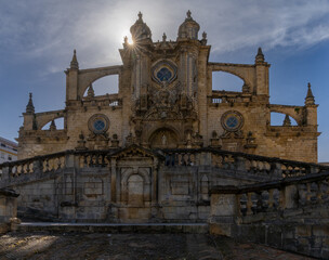
[[[215,53],[258,46],[298,49],[329,38],[329,2],[323,0],[16,0],[2,3],[0,48],[15,51],[16,58],[51,61],[49,73],[63,70],[73,49],[82,67],[116,64],[139,11],[156,41],[164,31],[175,40],[188,9]]]

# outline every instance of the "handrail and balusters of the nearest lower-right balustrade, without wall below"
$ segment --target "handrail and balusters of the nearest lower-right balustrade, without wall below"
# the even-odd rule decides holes
[[[248,222],[259,221],[256,217],[260,213],[329,203],[329,171],[244,186],[215,186],[210,193],[235,195],[232,203],[236,203],[236,217]]]

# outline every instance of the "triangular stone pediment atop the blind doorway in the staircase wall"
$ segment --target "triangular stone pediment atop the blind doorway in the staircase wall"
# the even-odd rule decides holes
[[[131,158],[160,158],[163,159],[163,156],[152,150],[144,148],[136,144],[132,144],[128,147],[116,151],[113,154],[109,154],[108,157],[116,159],[131,159]]]

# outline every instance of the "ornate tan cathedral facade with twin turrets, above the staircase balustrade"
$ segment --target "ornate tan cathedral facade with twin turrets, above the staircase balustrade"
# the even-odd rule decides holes
[[[32,100],[19,129],[18,158],[68,150],[213,147],[284,159],[317,161],[317,105],[311,86],[304,106],[269,104],[262,50],[254,64],[209,62],[207,34],[190,12],[175,41],[154,42],[142,14],[124,39],[122,65],[80,69],[76,51],[66,73],[66,107],[35,113]],[[244,80],[239,92],[214,90],[215,72]],[[118,93],[95,95],[92,83],[118,75]],[[271,113],[286,115],[271,126]],[[64,129],[54,120],[64,118]],[[293,118],[297,126],[291,126]],[[51,122],[49,130],[42,128]]]

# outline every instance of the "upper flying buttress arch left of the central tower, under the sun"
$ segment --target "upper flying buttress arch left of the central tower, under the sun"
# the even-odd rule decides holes
[[[120,81],[121,70],[122,70],[121,65],[79,70],[78,96],[82,98],[88,87],[100,78],[110,75],[119,75],[119,81]]]

